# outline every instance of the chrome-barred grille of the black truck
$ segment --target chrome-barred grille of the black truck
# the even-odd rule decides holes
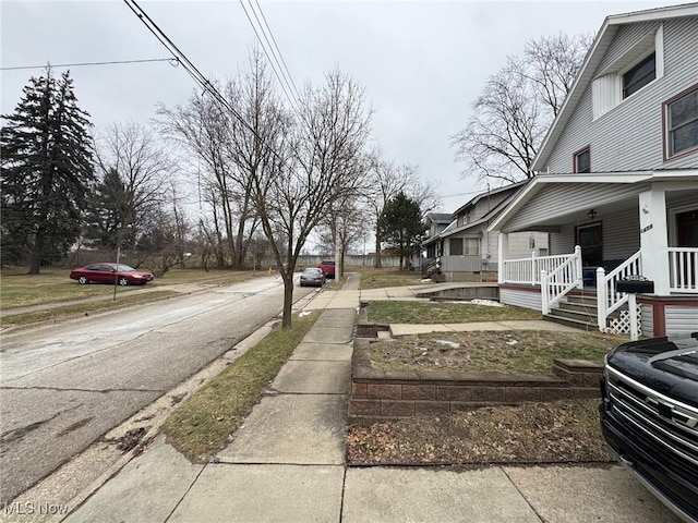
[[[640,437],[653,440],[685,465],[698,469],[698,409],[673,400],[606,366],[613,413]]]

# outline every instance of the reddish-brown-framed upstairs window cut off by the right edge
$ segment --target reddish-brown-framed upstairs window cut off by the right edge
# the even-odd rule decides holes
[[[698,147],[698,85],[664,104],[665,158]]]

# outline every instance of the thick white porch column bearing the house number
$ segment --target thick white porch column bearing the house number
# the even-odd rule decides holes
[[[669,234],[666,229],[666,190],[652,184],[639,194],[640,257],[642,276],[654,281],[654,294],[669,295]]]

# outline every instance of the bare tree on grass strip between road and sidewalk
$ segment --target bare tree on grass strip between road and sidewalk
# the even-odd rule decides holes
[[[293,271],[309,234],[347,194],[356,194],[371,111],[365,94],[339,71],[325,76],[321,88],[306,85],[300,99],[300,121],[278,111],[277,133],[258,147],[274,147],[255,170],[253,194],[265,235],[284,280],[282,326],[291,326]]]

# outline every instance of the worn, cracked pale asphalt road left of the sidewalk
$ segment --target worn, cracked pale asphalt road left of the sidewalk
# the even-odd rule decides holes
[[[230,350],[282,300],[269,277],[3,335],[0,503]]]

